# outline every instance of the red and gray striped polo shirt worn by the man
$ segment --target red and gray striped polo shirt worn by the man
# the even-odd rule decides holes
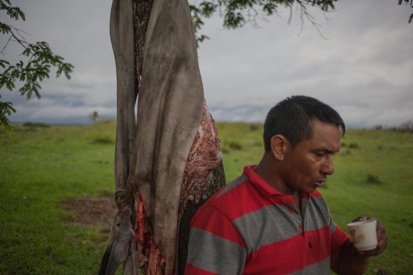
[[[321,194],[300,193],[301,214],[245,166],[191,222],[185,274],[330,274],[330,255],[349,236]]]

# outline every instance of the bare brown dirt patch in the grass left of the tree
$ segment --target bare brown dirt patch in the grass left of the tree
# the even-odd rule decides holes
[[[71,217],[63,219],[64,223],[110,226],[116,210],[116,203],[113,196],[65,199],[62,201],[62,204],[66,211],[73,213]]]

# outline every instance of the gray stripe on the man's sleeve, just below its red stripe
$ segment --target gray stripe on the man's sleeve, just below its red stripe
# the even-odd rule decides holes
[[[196,268],[223,275],[241,274],[246,258],[247,251],[241,245],[211,232],[191,228],[187,262]]]

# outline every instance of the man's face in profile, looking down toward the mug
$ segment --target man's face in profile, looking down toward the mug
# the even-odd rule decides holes
[[[313,120],[314,135],[294,149],[288,147],[280,169],[281,180],[291,191],[311,194],[334,173],[333,154],[340,150],[341,132],[331,123]]]

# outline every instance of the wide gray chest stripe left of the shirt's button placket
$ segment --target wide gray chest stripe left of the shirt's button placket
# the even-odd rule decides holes
[[[292,206],[292,205],[290,205]],[[286,205],[271,205],[249,212],[233,220],[233,225],[244,238],[247,252],[258,251],[266,244],[279,242],[301,233],[301,216],[290,214]]]

